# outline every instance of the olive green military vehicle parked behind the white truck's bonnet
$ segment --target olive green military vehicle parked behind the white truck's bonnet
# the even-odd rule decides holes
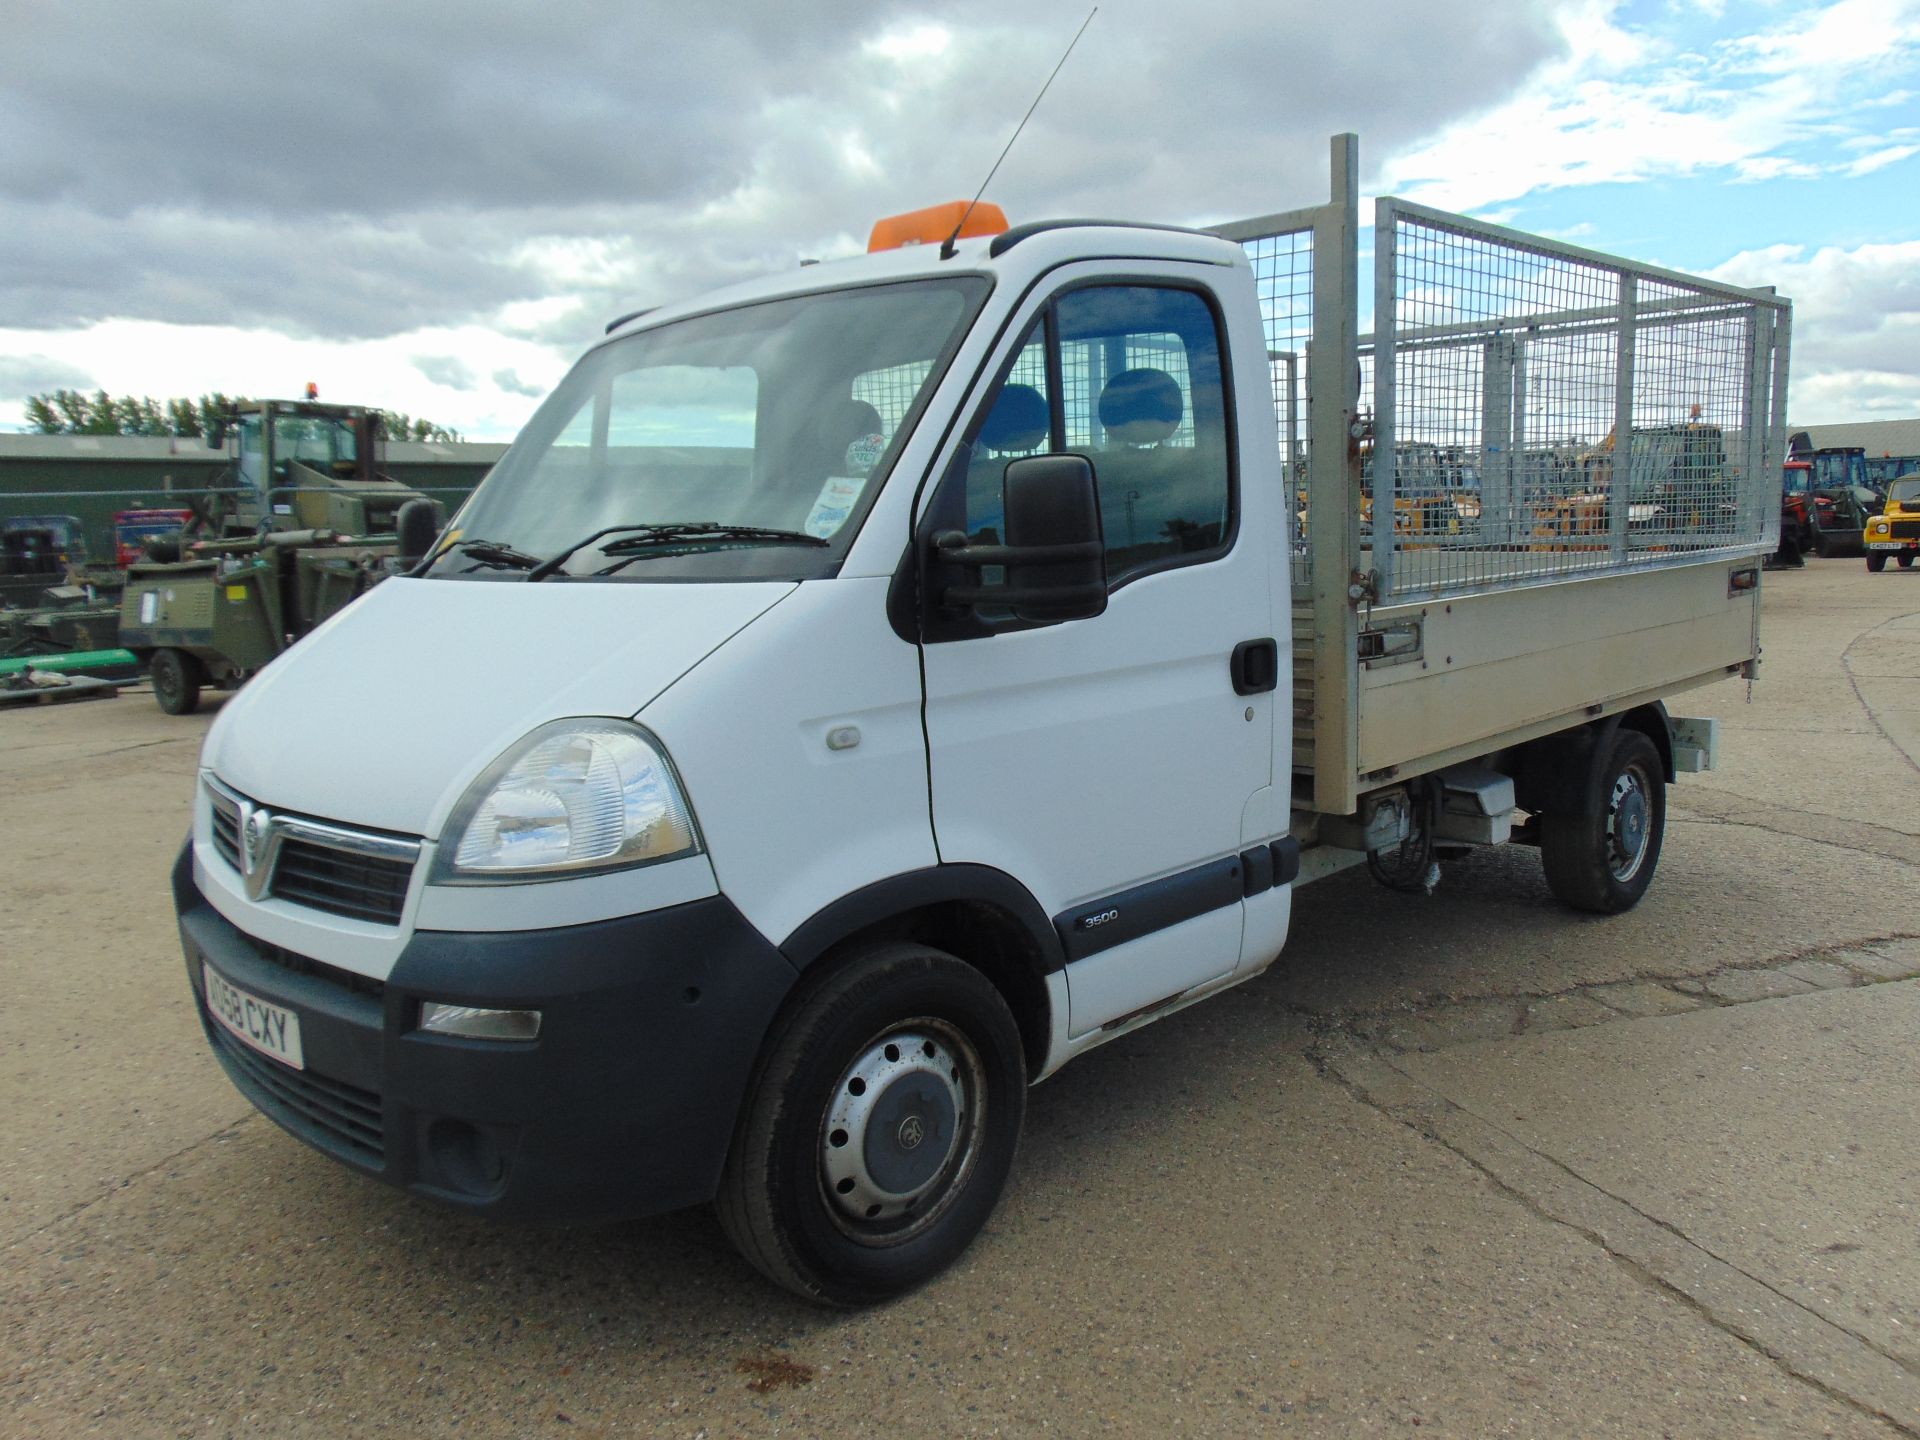
[[[127,570],[119,643],[167,714],[234,687],[369,588],[413,564],[440,507],[378,470],[376,411],[265,399],[209,436],[227,480],[182,503],[177,545]]]

